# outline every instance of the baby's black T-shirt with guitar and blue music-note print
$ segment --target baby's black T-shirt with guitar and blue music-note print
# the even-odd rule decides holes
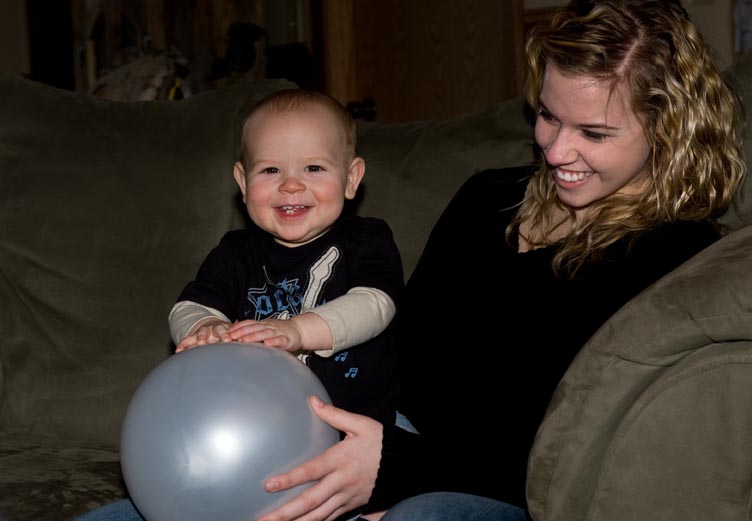
[[[178,301],[221,311],[231,321],[303,313],[358,286],[384,291],[395,302],[402,262],[389,226],[371,217],[343,217],[307,244],[290,248],[255,225],[225,234]],[[393,327],[365,342],[306,363],[332,403],[385,423],[397,402]]]

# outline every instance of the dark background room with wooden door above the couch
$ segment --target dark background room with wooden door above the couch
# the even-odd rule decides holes
[[[2,0],[0,70],[115,100],[284,77],[359,119],[439,119],[518,95],[525,31],[559,3]],[[743,50],[737,3],[684,2],[724,65]]]

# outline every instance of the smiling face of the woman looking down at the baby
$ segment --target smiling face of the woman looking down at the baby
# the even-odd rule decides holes
[[[581,214],[615,193],[639,193],[650,146],[622,88],[546,67],[535,122],[561,201]]]

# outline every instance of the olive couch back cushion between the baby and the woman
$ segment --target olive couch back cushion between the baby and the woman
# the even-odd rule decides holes
[[[442,121],[359,123],[366,175],[358,212],[392,224],[406,277],[465,180],[481,170],[534,160],[529,121],[516,98]]]

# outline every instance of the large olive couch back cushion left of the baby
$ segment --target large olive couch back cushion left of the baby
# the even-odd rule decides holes
[[[118,442],[176,296],[242,223],[236,115],[289,86],[121,103],[0,75],[0,429]]]

